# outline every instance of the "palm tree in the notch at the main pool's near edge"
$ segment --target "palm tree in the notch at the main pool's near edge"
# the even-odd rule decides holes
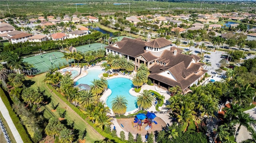
[[[125,114],[128,101],[124,96],[116,96],[116,98],[111,101],[111,104],[114,114],[118,114],[120,116]]]

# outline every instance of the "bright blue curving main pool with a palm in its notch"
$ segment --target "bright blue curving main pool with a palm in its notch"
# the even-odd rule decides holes
[[[138,108],[137,106],[137,98],[132,96],[129,93],[129,90],[133,87],[132,80],[128,78],[112,78],[108,80],[108,88],[111,89],[112,93],[108,96],[106,104],[112,109],[112,100],[116,98],[116,96],[124,96],[128,101],[126,112],[130,112]]]

